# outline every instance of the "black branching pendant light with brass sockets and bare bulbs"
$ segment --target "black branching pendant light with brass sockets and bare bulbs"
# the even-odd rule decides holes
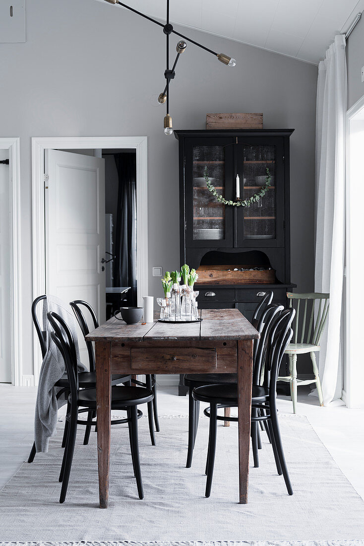
[[[204,49],[205,51],[208,51],[209,53],[212,53],[212,55],[215,55],[218,60],[224,64],[226,64],[229,67],[235,67],[236,61],[235,59],[229,57],[228,55],[225,55],[224,53],[216,53],[216,51],[212,51],[212,49],[206,48],[204,45],[199,44],[197,41],[194,41],[187,36],[184,36],[183,34],[180,34],[179,32],[175,31],[175,29],[172,27],[172,25],[169,22],[169,0],[166,0],[167,2],[167,8],[166,8],[166,23],[163,25],[163,23],[156,21],[155,19],[152,19],[152,17],[149,17],[148,15],[145,15],[144,13],[141,13],[140,11],[131,8],[129,5],[124,4],[123,2],[120,2],[119,0],[105,0],[105,2],[109,2],[109,4],[118,4],[121,5],[123,8],[129,9],[130,11],[133,11],[133,13],[136,13],[137,15],[140,15],[141,17],[144,17],[145,19],[148,19],[148,21],[152,21],[153,23],[156,23],[156,25],[159,25],[163,28],[163,32],[166,35],[166,69],[164,71],[164,77],[166,79],[166,84],[164,87],[164,91],[159,94],[158,102],[160,104],[166,103],[166,115],[164,117],[164,132],[166,135],[170,135],[173,133],[172,128],[172,117],[169,113],[169,85],[171,80],[174,80],[175,78],[175,68],[176,64],[178,62],[178,59],[180,58],[180,55],[183,53],[183,51],[187,47],[187,43],[184,40],[190,41],[192,44],[197,45],[199,48]],[[180,38],[183,38],[182,40],[178,41],[176,46],[176,58],[175,62],[173,63],[172,68],[169,68],[169,36],[170,34],[176,34]]]

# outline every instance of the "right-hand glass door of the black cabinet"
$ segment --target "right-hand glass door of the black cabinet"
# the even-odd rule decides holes
[[[279,139],[249,139],[236,146],[236,173],[240,177],[242,199],[256,195],[266,185],[265,195],[249,207],[238,207],[237,246],[276,246],[283,244],[284,188],[283,143]]]

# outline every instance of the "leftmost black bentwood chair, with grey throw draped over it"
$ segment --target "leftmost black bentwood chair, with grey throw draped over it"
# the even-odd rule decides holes
[[[32,319],[33,319],[35,331],[37,332],[37,335],[38,335],[40,349],[41,349],[41,356],[42,356],[43,359],[44,359],[46,351],[47,351],[47,347],[46,347],[46,334],[47,333],[46,333],[46,330],[41,329],[41,326],[40,326],[40,323],[39,323],[39,320],[38,320],[38,308],[39,308],[40,303],[43,302],[46,298],[47,298],[47,296],[45,294],[43,294],[41,296],[38,296],[38,298],[35,298],[35,300],[33,301],[33,304],[32,304]],[[94,369],[94,364],[92,365],[92,360],[90,358],[90,353],[88,353],[88,357],[89,357],[89,369],[90,369],[90,371],[89,372],[80,372],[78,374],[79,386],[80,386],[81,389],[89,389],[89,388],[93,388],[93,387],[96,386],[96,373],[95,373],[95,369]],[[113,375],[112,380],[111,380],[111,384],[112,385],[117,385],[117,384],[120,384],[120,383],[128,384],[131,379],[132,379],[132,376],[130,376],[130,375],[129,376],[126,376],[126,375]],[[62,394],[65,394],[65,396],[68,397],[70,390],[69,390],[69,382],[68,382],[68,377],[67,377],[66,372],[64,373],[63,377],[61,377],[61,379],[59,379],[55,383],[54,386],[59,389],[58,392],[57,392],[57,395],[56,395],[57,400],[59,399],[60,396],[62,396]],[[67,406],[67,413],[68,412],[69,412],[69,406]],[[85,423],[85,422],[82,422],[82,423]],[[67,428],[68,428],[68,422],[66,421],[65,426],[64,426],[64,432],[63,432],[62,447],[65,446],[65,439],[67,437]],[[83,440],[83,444],[85,446],[88,443],[88,438],[89,438],[90,431],[91,431],[91,425],[87,425],[86,426],[86,431],[85,431],[85,438]],[[29,458],[28,458],[29,463],[33,462],[36,452],[37,452],[37,450],[35,449],[35,442],[33,442],[31,453],[29,454]]]

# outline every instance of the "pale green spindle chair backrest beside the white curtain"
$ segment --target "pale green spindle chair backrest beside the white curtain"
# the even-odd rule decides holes
[[[289,299],[289,307],[296,309],[293,343],[319,345],[327,317],[329,316],[330,294],[321,294],[318,292],[294,294],[293,292],[287,292],[287,298]],[[303,300],[305,301],[304,306]],[[316,301],[319,301],[319,305],[315,313]]]

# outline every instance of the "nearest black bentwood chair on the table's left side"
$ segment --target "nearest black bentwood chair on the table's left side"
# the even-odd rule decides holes
[[[64,359],[67,369],[70,394],[68,397],[70,411],[66,416],[69,423],[67,432],[67,441],[64,449],[61,473],[59,481],[62,482],[61,496],[59,502],[63,503],[67,495],[67,488],[71,465],[73,460],[77,424],[82,423],[78,419],[79,413],[96,412],[96,389],[80,390],[77,374],[77,359],[75,344],[67,324],[57,313],[47,313],[49,322],[55,330],[51,333],[52,340],[56,343]],[[132,462],[136,485],[138,487],[139,498],[144,498],[143,485],[139,461],[139,443],[138,443],[138,418],[142,412],[138,410],[139,404],[148,403],[152,400],[153,393],[144,387],[117,387],[111,388],[111,410],[122,410],[127,412],[125,419],[118,419],[118,423],[128,423],[130,451],[132,453]]]

